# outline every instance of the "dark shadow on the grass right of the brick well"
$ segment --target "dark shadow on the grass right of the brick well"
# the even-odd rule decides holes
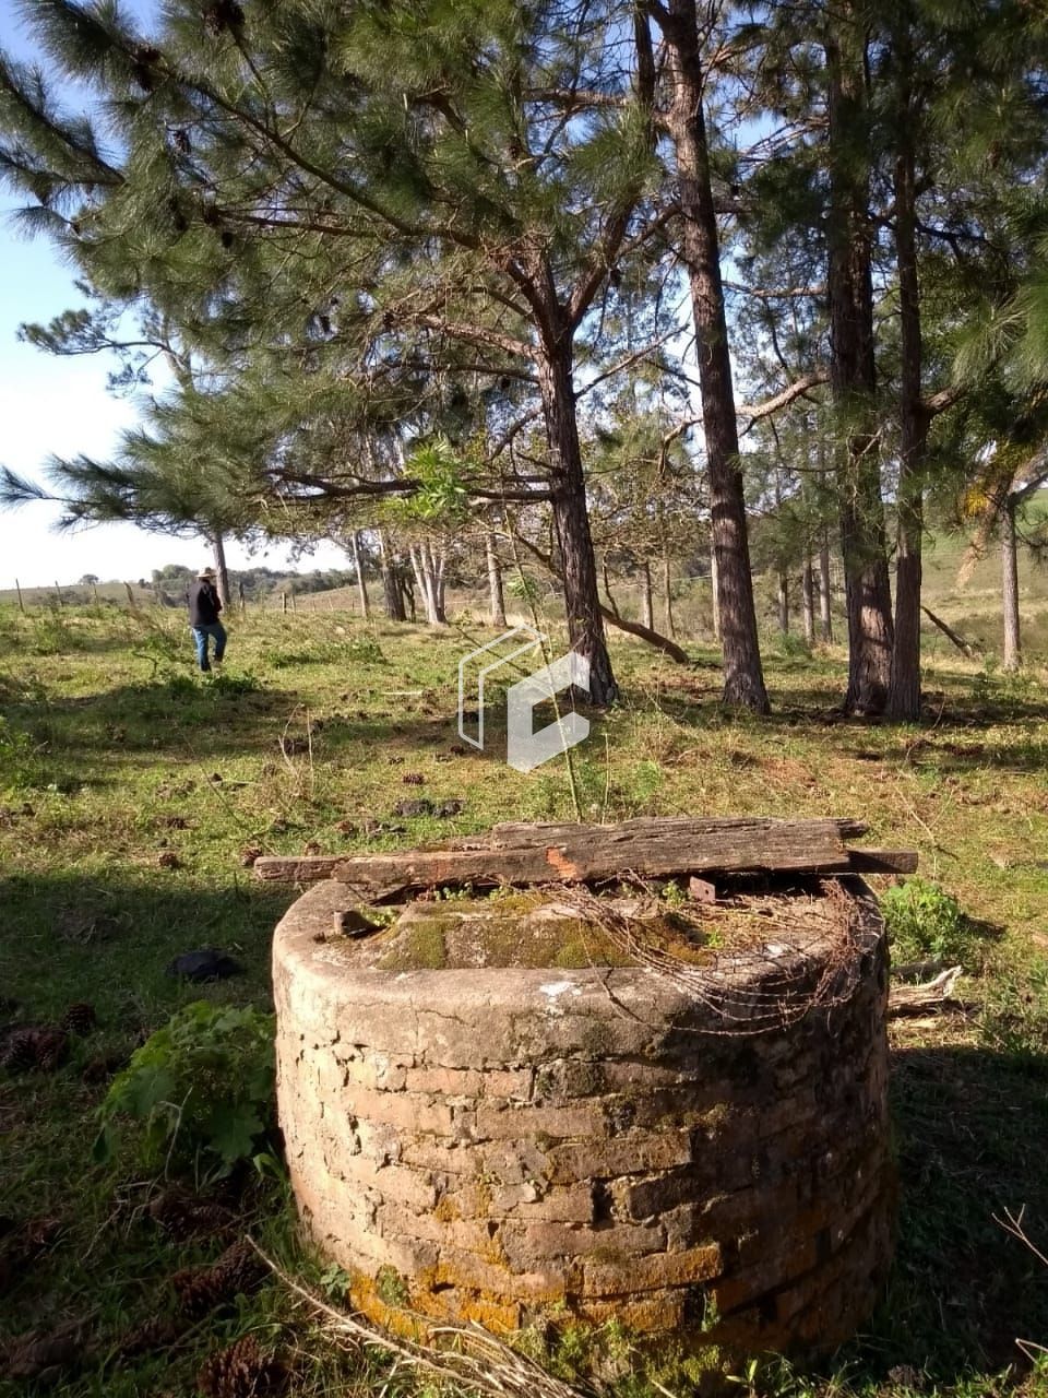
[[[1028,1367],[1017,1339],[1048,1341],[1048,1268],[996,1219],[1024,1209],[1048,1241],[1048,1055],[975,1047],[894,1053],[900,1211],[887,1293],[845,1356],[883,1380],[936,1383]]]

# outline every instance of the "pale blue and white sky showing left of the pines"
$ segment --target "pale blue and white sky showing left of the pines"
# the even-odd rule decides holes
[[[136,8],[143,8],[140,3]],[[0,43],[18,59],[29,56],[25,31],[13,0],[0,0]],[[52,454],[77,453],[105,460],[122,429],[137,419],[134,400],[116,398],[106,375],[116,361],[103,355],[59,358],[18,341],[24,322],[48,322],[82,305],[73,273],[46,239],[27,240],[11,210],[18,200],[0,189],[0,463],[34,480],[43,478]],[[131,524],[103,524],[74,534],[56,533],[60,510],[46,503],[0,512],[0,591],[46,583],[74,583],[85,573],[102,579],[150,577],[165,563],[198,566],[210,562],[203,540],[151,534]],[[238,544],[226,549],[232,568],[345,568],[345,552],[321,545],[312,558],[289,565],[288,549],[274,547],[249,555]]]

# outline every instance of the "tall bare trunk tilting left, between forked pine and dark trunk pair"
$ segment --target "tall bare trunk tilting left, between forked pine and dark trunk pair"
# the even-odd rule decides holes
[[[703,115],[706,73],[696,3],[669,0],[665,8],[658,6],[654,10],[654,18],[665,39],[667,73],[672,88],[668,122],[676,148],[683,254],[699,354],[706,471],[720,593],[717,611],[724,653],[724,702],[767,713],[770,705],[753,604],[720,238]]]

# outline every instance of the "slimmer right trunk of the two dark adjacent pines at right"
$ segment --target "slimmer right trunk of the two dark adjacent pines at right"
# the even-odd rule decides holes
[[[898,270],[898,523],[896,530],[896,630],[891,646],[891,719],[921,717],[921,544],[928,412],[921,398],[921,287],[917,275],[917,178],[914,162],[912,53],[904,7],[896,42],[898,113],[896,154],[896,264]]]

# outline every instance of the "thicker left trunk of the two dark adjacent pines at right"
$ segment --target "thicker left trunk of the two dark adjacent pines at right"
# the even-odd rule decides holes
[[[848,614],[847,713],[879,714],[891,678],[891,584],[876,436],[865,36],[845,0],[826,41],[830,88],[830,389]]]

